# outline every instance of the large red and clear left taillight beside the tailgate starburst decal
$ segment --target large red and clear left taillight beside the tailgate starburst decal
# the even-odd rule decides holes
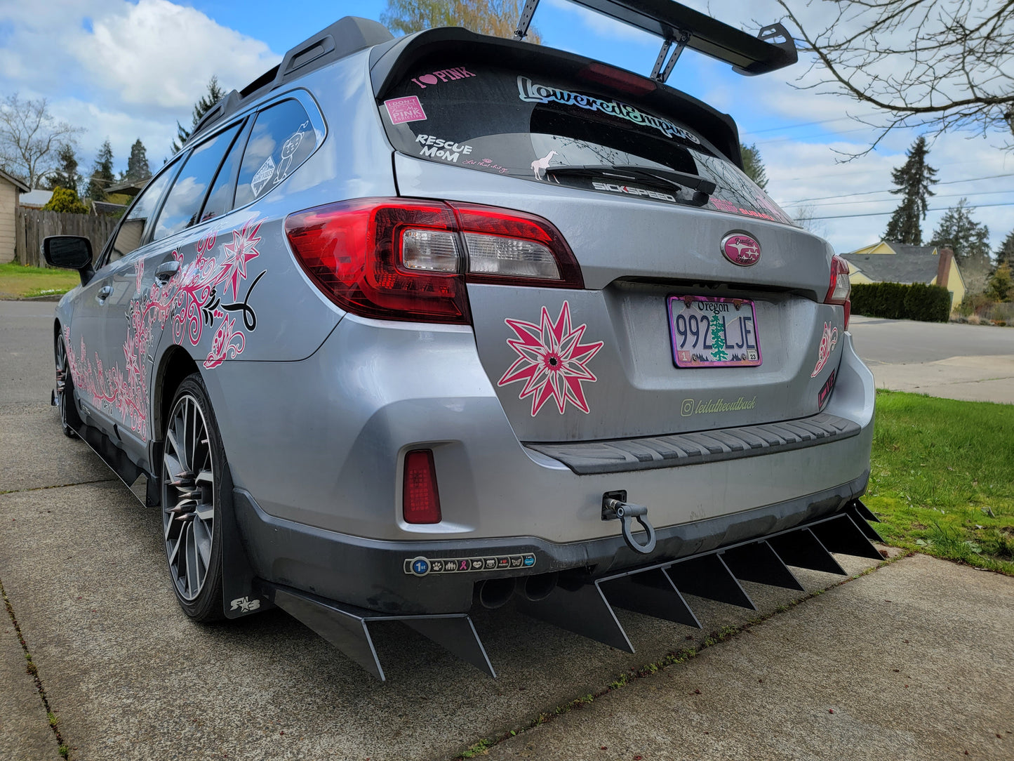
[[[466,281],[584,287],[556,227],[491,206],[358,199],[293,214],[285,232],[316,286],[363,317],[466,325]]]

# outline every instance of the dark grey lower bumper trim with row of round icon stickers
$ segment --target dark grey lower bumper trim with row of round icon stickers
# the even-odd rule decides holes
[[[567,570],[594,578],[786,531],[842,510],[865,491],[868,478],[866,471],[819,493],[659,528],[650,556],[631,550],[615,522],[614,535],[582,542],[555,543],[530,536],[383,541],[274,517],[245,490],[233,494],[247,556],[261,578],[369,610],[440,614],[467,611],[477,583],[488,579]],[[506,567],[500,565],[502,559],[507,560]],[[496,565],[488,569],[491,560]],[[453,561],[455,570],[435,570],[434,561]],[[459,570],[461,563],[466,570]]]

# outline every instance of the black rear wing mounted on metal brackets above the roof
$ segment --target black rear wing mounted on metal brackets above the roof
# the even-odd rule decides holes
[[[684,48],[732,64],[739,74],[767,74],[798,60],[796,45],[781,23],[760,29],[757,37],[722,23],[709,15],[671,0],[572,0],[619,21],[662,38],[653,79],[665,82]],[[515,40],[524,40],[538,0],[525,0]],[[670,49],[675,45],[669,55]],[[666,57],[668,56],[668,60]]]

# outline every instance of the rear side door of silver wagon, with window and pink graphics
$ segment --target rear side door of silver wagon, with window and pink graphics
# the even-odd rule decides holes
[[[226,127],[176,160],[179,168],[164,175],[168,190],[159,191],[164,200],[155,207],[154,222],[147,225],[140,248],[124,257],[110,276],[103,343],[119,362],[114,376],[123,390],[117,399],[116,434],[135,462],[146,460],[153,434],[149,395],[155,348],[166,327],[187,330],[190,324],[191,316],[184,316],[182,325],[170,323],[178,305],[179,273],[201,248],[190,246],[185,231],[199,223],[212,181],[239,128]]]

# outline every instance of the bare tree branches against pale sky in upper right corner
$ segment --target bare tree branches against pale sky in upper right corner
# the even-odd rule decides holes
[[[873,144],[845,155],[869,152],[899,127],[1014,131],[1014,0],[778,2],[814,55],[797,86],[843,94],[882,115],[860,120],[880,131]],[[822,20],[813,24],[817,11]],[[809,81],[814,70],[817,82]]]

